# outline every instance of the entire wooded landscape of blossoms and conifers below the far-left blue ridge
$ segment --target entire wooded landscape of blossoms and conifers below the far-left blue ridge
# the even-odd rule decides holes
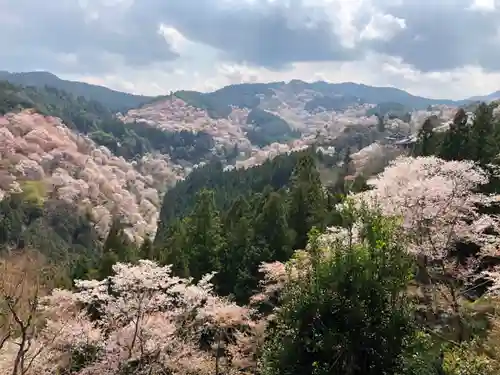
[[[271,86],[2,84],[1,375],[499,373],[498,105]]]

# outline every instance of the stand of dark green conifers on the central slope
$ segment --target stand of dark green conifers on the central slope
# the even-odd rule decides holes
[[[155,259],[184,276],[217,271],[219,293],[246,303],[261,263],[288,260],[330,218],[316,161],[308,150],[247,170],[194,171],[165,196]]]

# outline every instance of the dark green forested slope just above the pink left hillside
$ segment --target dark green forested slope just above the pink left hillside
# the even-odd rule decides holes
[[[126,159],[158,151],[174,160],[198,162],[209,158],[214,146],[212,137],[203,132],[174,133],[142,123],[124,124],[99,102],[51,87],[20,87],[0,81],[0,114],[24,108],[59,117],[69,128]]]

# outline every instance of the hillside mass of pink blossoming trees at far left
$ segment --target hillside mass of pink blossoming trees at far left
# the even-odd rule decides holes
[[[0,117],[0,160],[0,191],[19,189],[23,180],[43,181],[53,198],[90,209],[103,235],[117,211],[135,238],[155,233],[161,192],[183,177],[167,156],[129,163],[59,118],[30,110]]]

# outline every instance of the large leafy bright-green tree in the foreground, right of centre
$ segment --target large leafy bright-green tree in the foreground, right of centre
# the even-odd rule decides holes
[[[363,210],[348,216],[364,224],[365,240],[327,250],[312,236],[312,269],[282,295],[264,347],[263,374],[378,375],[400,369],[414,329],[404,294],[412,263],[392,221]]]

